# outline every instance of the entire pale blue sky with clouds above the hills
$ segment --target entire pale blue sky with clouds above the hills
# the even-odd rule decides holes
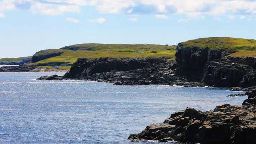
[[[254,0],[0,0],[0,57],[79,43],[256,39]]]

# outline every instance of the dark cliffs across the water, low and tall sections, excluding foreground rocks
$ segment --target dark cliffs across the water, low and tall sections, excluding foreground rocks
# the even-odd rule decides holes
[[[79,58],[62,78],[114,85],[256,86],[256,58],[227,57],[227,54],[222,50],[179,44],[175,61],[165,58]]]

